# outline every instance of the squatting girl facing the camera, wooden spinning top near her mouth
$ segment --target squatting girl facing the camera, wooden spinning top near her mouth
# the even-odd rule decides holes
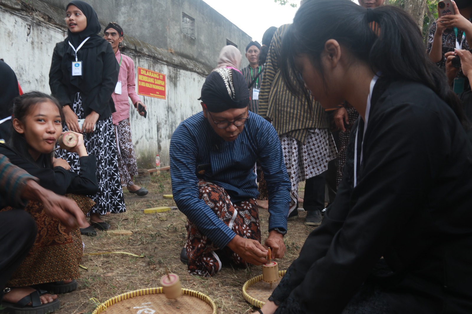
[[[51,156],[62,132],[62,107],[58,100],[39,91],[23,94],[14,101],[13,116],[11,137],[8,145],[0,144],[0,154],[36,177],[43,188],[59,195],[74,193],[67,197],[88,212],[94,203],[85,195],[98,190],[96,158],[88,155],[80,133],[76,134],[76,146],[67,149],[77,155],[80,174],[69,171],[66,160]],[[42,310],[45,313],[56,309],[59,301],[49,304],[52,301],[49,299],[46,303],[51,296],[44,295],[45,291],[40,289],[64,293],[77,288],[75,279],[80,276],[82,240],[77,228],[68,231],[58,219],[46,215],[41,202],[28,202],[25,211],[34,218],[38,235],[28,256],[9,279],[7,287],[11,291],[5,295],[2,306],[8,307],[9,311],[43,313]],[[28,294],[33,299],[34,296],[41,298],[43,304],[33,301],[31,307],[25,306],[30,301]],[[25,295],[25,302],[15,304]]]

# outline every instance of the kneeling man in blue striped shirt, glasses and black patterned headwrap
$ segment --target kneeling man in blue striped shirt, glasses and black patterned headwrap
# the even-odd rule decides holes
[[[202,87],[203,111],[183,121],[170,140],[170,176],[177,207],[187,216],[189,273],[212,276],[219,256],[238,266],[284,256],[290,181],[277,132],[248,111],[242,74],[211,72]],[[269,190],[269,237],[261,245],[256,159]]]

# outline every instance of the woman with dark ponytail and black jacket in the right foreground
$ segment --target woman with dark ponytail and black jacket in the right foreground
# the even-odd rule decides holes
[[[416,23],[395,7],[307,1],[282,60],[291,90],[348,101],[361,119],[332,207],[261,312],[470,313],[472,145]]]

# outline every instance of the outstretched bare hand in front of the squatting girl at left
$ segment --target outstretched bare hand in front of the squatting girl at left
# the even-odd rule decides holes
[[[26,182],[21,197],[40,201],[46,214],[58,218],[68,228],[76,228],[79,223],[87,224],[85,215],[76,202],[44,189],[34,180]]]

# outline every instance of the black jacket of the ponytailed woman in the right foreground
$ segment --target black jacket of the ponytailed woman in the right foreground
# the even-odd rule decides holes
[[[341,313],[368,279],[391,313],[472,313],[472,145],[463,127],[426,86],[379,79],[354,188],[363,125],[351,132],[334,203],[270,298],[276,313]],[[391,272],[378,276],[382,256]]]

